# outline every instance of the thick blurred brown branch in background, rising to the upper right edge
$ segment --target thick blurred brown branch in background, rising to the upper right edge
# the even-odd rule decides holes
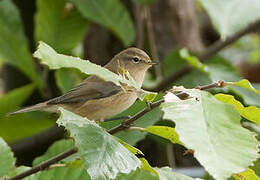
[[[248,33],[254,32],[258,29],[260,29],[260,20],[256,21],[255,23],[250,24],[245,29],[243,29],[243,30],[235,33],[233,36],[227,38],[225,41],[219,40],[219,41],[215,42],[213,45],[211,45],[209,48],[207,48],[206,51],[201,53],[198,56],[198,58],[202,62],[205,62],[206,60],[208,60],[209,58],[214,56],[217,52],[226,48],[230,44],[234,43],[235,41],[237,41],[242,36],[244,36]],[[185,66],[182,69],[180,69],[179,71],[177,71],[175,74],[163,79],[156,87],[151,88],[151,89],[147,89],[147,90],[156,91],[156,92],[161,91],[161,90],[167,88],[172,82],[180,79],[185,74],[189,73],[191,70],[192,70],[191,67]]]

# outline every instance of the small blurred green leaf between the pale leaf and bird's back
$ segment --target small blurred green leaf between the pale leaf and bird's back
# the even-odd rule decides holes
[[[55,71],[56,83],[64,94],[83,81],[83,77],[76,69],[59,69]]]

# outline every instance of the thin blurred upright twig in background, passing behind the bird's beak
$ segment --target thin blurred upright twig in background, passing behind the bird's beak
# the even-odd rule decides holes
[[[162,70],[161,70],[160,61],[159,61],[158,49],[157,49],[156,41],[155,41],[150,7],[145,6],[144,9],[145,9],[145,20],[146,20],[149,44],[150,44],[151,53],[152,53],[152,59],[154,62],[156,62],[158,64],[157,66],[154,66],[155,75],[158,80],[162,80],[162,78],[163,78]]]

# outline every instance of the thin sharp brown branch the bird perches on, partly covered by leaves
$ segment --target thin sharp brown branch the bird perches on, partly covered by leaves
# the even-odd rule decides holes
[[[205,89],[210,89],[210,88],[221,88],[225,85],[224,81],[219,81],[217,83],[212,83],[209,85],[205,85],[205,86],[198,86],[196,87],[196,89],[200,89],[200,90],[205,90]],[[176,94],[176,96],[178,96],[180,99],[185,99],[187,98],[189,95],[184,93],[184,92],[180,92],[178,94]],[[152,109],[158,107],[161,103],[164,102],[164,99],[158,100],[154,103],[148,104],[148,106],[146,108],[144,108],[143,110],[141,110],[139,113],[137,113],[136,115],[134,115],[133,117],[129,118],[128,120],[124,121],[123,123],[121,123],[120,125],[110,129],[108,132],[110,134],[115,134],[119,131],[128,129],[129,127],[132,126],[132,124],[139,119],[140,117],[142,117],[143,115],[145,115],[147,112],[151,111]],[[38,166],[35,166],[21,174],[18,174],[17,176],[14,176],[12,178],[9,178],[7,180],[20,180],[24,177],[30,176],[34,173],[37,173],[41,170],[45,170],[48,167],[50,167],[52,164],[57,163],[58,161],[65,159],[69,156],[71,156],[72,154],[75,154],[76,152],[78,152],[78,149],[76,147],[69,149],[68,151],[65,151],[45,162],[42,162],[41,164],[39,164]]]

